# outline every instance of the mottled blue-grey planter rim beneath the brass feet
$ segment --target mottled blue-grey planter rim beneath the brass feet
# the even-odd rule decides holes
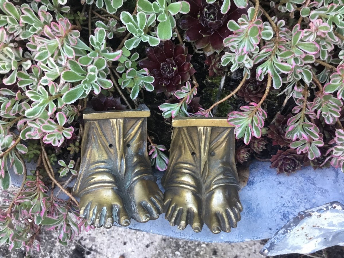
[[[289,219],[305,209],[333,201],[344,203],[344,173],[340,170],[308,167],[287,176],[276,175],[270,164],[260,161],[250,164],[247,185],[239,193],[244,207],[241,221],[231,233],[213,234],[205,225],[200,233],[195,233],[190,225],[179,230],[177,226],[171,227],[163,214],[147,223],[132,220],[127,228],[194,241],[237,243],[271,238]],[[163,172],[158,171],[155,175],[162,188]],[[12,181],[20,185],[21,177],[13,175]]]

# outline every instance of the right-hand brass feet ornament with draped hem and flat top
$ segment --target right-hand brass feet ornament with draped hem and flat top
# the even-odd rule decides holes
[[[163,177],[164,212],[170,225],[195,232],[230,232],[242,206],[235,165],[234,128],[223,117],[172,120],[170,162]]]

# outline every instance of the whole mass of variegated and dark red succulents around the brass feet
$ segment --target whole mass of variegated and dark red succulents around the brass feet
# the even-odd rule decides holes
[[[0,187],[23,177],[0,243],[30,253],[43,229],[61,244],[90,229],[66,187],[86,107],[146,103],[161,171],[171,118],[214,115],[235,127],[238,163],[344,171],[343,20],[342,0],[0,0]]]

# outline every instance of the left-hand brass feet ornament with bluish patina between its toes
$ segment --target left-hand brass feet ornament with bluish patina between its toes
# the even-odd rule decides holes
[[[80,172],[73,192],[80,197],[80,216],[96,227],[114,222],[128,226],[157,219],[161,193],[147,153],[147,117],[135,110],[88,112],[81,146]]]

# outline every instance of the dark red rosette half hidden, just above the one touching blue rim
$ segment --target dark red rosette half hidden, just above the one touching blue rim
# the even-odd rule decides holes
[[[272,139],[272,145],[284,147],[291,143],[291,140],[285,137],[287,122],[291,117],[292,114],[288,114],[287,116],[278,114],[275,123],[269,125],[268,137]]]

